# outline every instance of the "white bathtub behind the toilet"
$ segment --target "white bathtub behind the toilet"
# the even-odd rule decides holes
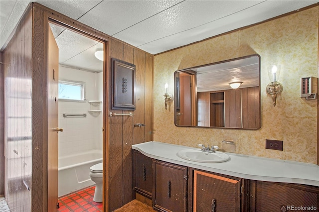
[[[89,150],[59,157],[58,196],[93,186],[90,167],[102,161],[102,150]]]

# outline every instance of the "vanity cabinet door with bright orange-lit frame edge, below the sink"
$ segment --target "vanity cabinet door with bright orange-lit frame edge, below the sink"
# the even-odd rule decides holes
[[[241,180],[194,170],[194,212],[240,212]]]

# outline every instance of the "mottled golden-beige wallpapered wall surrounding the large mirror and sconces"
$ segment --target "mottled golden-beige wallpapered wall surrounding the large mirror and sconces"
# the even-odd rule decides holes
[[[319,7],[216,36],[154,58],[154,140],[197,147],[219,145],[225,152],[317,163],[317,101],[300,97],[300,78],[318,77]],[[262,127],[258,130],[177,127],[174,102],[165,110],[164,85],[174,93],[176,70],[259,54]],[[266,94],[267,67],[281,65],[284,90],[277,105]],[[230,139],[235,145],[222,143]],[[265,149],[266,139],[283,140],[283,151]]]

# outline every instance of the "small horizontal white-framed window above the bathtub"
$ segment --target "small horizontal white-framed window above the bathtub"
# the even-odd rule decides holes
[[[59,100],[84,102],[85,83],[59,80]]]

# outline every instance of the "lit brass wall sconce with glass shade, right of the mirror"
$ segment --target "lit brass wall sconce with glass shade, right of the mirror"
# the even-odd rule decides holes
[[[277,94],[283,91],[283,85],[278,82],[280,74],[280,65],[273,65],[268,67],[268,77],[271,83],[266,87],[266,92],[273,98],[273,105],[276,106]]]

